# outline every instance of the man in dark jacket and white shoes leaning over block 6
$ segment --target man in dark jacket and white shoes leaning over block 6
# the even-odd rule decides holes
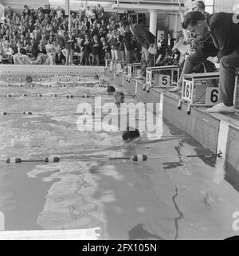
[[[199,36],[210,31],[214,45],[219,50],[221,103],[208,108],[207,111],[235,112],[233,93],[235,73],[239,67],[239,18],[236,14],[229,13],[211,14],[206,18],[201,12],[193,11],[185,15],[182,28]]]

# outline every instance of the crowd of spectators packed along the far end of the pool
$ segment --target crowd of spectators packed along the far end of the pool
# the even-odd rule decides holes
[[[24,6],[22,15],[11,7],[0,27],[0,62],[16,64],[104,65],[105,59],[125,61],[122,22],[105,18],[104,8],[83,6],[65,15],[65,10]],[[131,47],[139,49],[130,38]]]

